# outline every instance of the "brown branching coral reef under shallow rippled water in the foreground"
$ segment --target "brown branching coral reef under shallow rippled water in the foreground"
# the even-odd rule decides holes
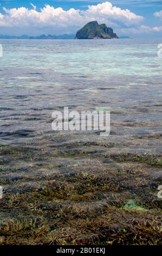
[[[100,144],[86,142],[64,147],[61,154],[39,143],[0,148],[8,160],[0,173],[0,243],[161,245],[161,156],[103,156],[90,153]]]

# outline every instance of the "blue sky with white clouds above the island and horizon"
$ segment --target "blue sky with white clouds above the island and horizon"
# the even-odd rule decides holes
[[[0,34],[75,34],[94,20],[119,36],[162,38],[162,0],[0,0]]]

